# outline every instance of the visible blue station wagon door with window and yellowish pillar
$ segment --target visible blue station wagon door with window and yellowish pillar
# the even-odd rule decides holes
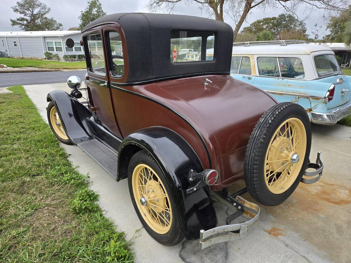
[[[256,76],[253,55],[232,56],[230,75],[252,85]]]

